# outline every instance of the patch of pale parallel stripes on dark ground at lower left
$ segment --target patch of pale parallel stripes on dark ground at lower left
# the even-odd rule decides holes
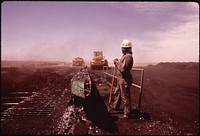
[[[49,116],[56,106],[56,97],[47,97],[45,94],[36,93],[1,113],[1,121],[13,120],[19,116]]]

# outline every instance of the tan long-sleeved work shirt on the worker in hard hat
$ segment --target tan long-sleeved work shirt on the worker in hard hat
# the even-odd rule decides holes
[[[117,76],[125,79],[127,83],[132,82],[131,68],[133,66],[133,56],[127,53],[116,63]]]

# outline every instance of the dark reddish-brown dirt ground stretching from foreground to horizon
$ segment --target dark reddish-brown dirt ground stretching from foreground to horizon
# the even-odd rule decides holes
[[[79,100],[82,105],[74,106],[70,104],[70,80],[79,68],[2,69],[1,133],[198,135],[199,64],[194,65],[160,63],[142,67],[141,109],[137,110],[135,105],[138,89],[132,87],[132,116],[125,120],[120,119],[122,111],[107,111],[110,91],[107,80],[111,78],[102,71],[89,71],[93,93],[87,100]],[[135,83],[139,75],[133,72]],[[10,101],[7,98],[12,97],[10,92],[23,91],[34,94],[7,109],[3,103]],[[19,96],[15,95],[15,101],[19,101]],[[48,110],[38,112],[38,107]],[[37,111],[37,115],[31,110]]]

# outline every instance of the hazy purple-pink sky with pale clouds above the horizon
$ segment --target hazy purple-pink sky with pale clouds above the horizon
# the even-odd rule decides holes
[[[199,5],[194,2],[34,2],[1,5],[2,60],[112,62],[133,43],[136,63],[199,62]]]

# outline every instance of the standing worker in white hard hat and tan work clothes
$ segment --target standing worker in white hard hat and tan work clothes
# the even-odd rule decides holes
[[[114,102],[109,107],[109,111],[119,109],[121,101],[123,102],[124,115],[122,118],[129,118],[131,112],[130,87],[132,84],[131,68],[133,66],[132,43],[129,40],[123,40],[121,43],[122,58],[114,59],[117,72],[117,87],[114,92]]]

